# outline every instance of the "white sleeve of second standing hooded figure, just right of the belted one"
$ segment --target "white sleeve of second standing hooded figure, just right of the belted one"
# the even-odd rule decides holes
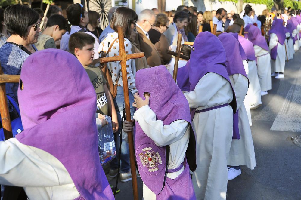
[[[244,103],[244,98],[248,92],[248,79],[242,74],[233,74],[230,76],[232,86],[236,96],[236,110],[238,110],[241,104]]]

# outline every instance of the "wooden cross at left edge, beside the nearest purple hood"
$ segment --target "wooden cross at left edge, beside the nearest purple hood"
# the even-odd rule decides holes
[[[11,118],[9,116],[8,104],[5,91],[5,83],[19,83],[20,75],[4,74],[0,65],[0,115],[5,140],[13,137],[11,129]]]

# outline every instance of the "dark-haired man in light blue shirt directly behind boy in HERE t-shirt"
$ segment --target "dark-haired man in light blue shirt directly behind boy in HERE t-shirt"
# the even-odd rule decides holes
[[[99,58],[99,54],[98,54],[98,47],[99,47],[99,43],[98,43],[98,38],[95,37],[95,35],[92,32],[89,32],[86,29],[87,24],[89,23],[89,17],[88,17],[88,13],[85,10],[84,6],[82,4],[71,4],[67,7],[67,18],[68,21],[70,22],[71,26],[71,31],[68,33],[65,33],[61,39],[61,45],[60,45],[60,49],[65,50],[65,51],[69,51],[69,47],[68,47],[68,43],[69,43],[69,39],[70,39],[70,35],[75,33],[75,32],[85,32],[89,35],[91,35],[92,37],[95,38],[95,43],[94,43],[94,59],[98,59]]]

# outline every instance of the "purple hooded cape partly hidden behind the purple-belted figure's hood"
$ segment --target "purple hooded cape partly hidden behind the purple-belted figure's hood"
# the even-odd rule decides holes
[[[236,38],[234,38],[231,34],[229,33],[222,33],[219,35],[219,40],[222,42],[222,45],[224,46],[224,49],[226,51],[226,56],[227,56],[227,72],[228,75],[234,75],[234,74],[241,74],[244,75],[246,78],[247,73],[244,69],[244,64],[243,61],[240,57],[239,54],[239,42],[237,41]],[[248,86],[250,82],[248,79]],[[238,128],[238,110],[236,111],[235,114],[233,114],[233,137],[232,139],[240,139],[239,135],[239,128]]]

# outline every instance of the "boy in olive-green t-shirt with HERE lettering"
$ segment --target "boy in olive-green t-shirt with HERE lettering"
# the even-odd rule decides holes
[[[93,51],[94,43],[95,39],[91,35],[84,32],[76,32],[70,36],[69,50],[85,68],[95,89],[97,95],[96,112],[98,113],[96,123],[98,127],[107,124],[104,115],[111,116],[113,132],[116,133],[118,131],[118,120],[112,95],[100,68],[91,65],[95,54]]]

